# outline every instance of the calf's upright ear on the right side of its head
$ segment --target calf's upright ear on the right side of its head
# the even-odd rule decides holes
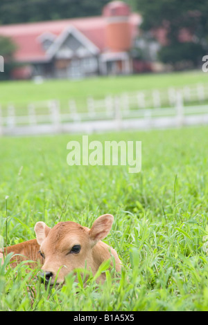
[[[93,245],[109,234],[113,221],[114,217],[111,214],[103,214],[94,221],[91,230],[89,230],[89,238],[92,240]]]

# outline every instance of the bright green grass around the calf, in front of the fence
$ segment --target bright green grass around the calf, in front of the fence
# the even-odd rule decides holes
[[[37,221],[90,227],[110,213],[105,242],[123,262],[119,281],[107,271],[103,286],[89,279],[84,287],[69,276],[49,297],[36,281],[32,291],[24,266],[0,267],[0,310],[208,310],[207,139],[208,127],[89,136],[141,140],[142,170],[130,174],[128,166],[69,167],[67,142],[81,136],[0,138],[4,241],[6,196],[10,244],[34,238]]]

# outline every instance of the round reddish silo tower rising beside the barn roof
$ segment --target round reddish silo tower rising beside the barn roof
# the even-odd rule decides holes
[[[106,19],[105,46],[112,52],[128,51],[131,48],[130,8],[123,1],[112,1],[103,8]]]

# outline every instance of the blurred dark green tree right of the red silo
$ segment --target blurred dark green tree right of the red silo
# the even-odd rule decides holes
[[[197,66],[208,49],[207,0],[135,0],[141,12],[143,30],[164,28],[167,44],[159,51],[159,59],[176,68],[182,62]],[[188,30],[192,39],[180,40],[182,29]]]

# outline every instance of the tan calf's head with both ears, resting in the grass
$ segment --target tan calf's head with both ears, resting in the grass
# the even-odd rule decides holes
[[[45,280],[53,284],[56,279],[56,283],[61,284],[69,272],[85,268],[85,263],[95,274],[101,261],[110,258],[110,247],[101,240],[110,232],[112,223],[111,214],[99,216],[91,229],[72,221],[60,222],[53,228],[42,221],[37,222],[35,234],[40,254],[44,257]]]

